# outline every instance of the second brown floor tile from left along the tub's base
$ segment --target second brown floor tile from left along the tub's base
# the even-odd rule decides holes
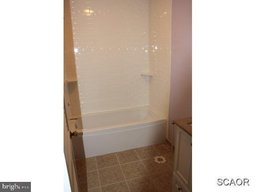
[[[109,153],[106,155],[96,156],[98,169],[106,168],[109,166],[118,165],[117,155],[115,153]]]

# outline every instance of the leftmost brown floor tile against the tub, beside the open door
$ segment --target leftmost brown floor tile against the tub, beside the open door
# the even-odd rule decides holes
[[[75,160],[77,174],[97,170],[95,157]]]

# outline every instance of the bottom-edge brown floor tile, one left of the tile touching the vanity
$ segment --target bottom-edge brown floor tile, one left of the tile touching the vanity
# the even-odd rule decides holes
[[[131,192],[156,192],[157,189],[149,176],[127,181]]]

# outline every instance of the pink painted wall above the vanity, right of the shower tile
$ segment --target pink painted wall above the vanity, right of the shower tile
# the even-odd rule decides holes
[[[192,0],[172,0],[171,17],[170,141],[171,122],[192,116]]]

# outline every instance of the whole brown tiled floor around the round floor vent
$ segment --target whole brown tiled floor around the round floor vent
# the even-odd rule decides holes
[[[173,153],[165,143],[78,159],[80,192],[171,192]],[[157,155],[167,162],[155,163]]]

